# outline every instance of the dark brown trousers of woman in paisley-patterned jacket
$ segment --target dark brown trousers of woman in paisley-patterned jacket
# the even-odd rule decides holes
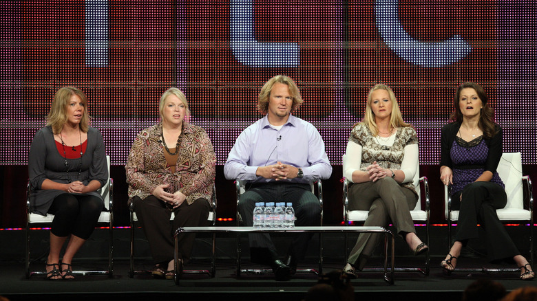
[[[175,252],[173,233],[178,227],[199,227],[209,223],[207,217],[211,205],[206,199],[197,199],[191,205],[187,201],[183,202],[173,211],[175,213],[173,223],[170,223],[171,211],[166,208],[163,201],[153,195],[143,200],[134,197],[132,201],[155,263],[168,263],[173,259]],[[195,233],[179,234],[179,258],[189,260],[194,238]]]

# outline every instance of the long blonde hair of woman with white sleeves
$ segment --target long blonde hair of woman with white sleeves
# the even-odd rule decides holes
[[[354,127],[358,124],[364,124],[368,127],[369,131],[371,131],[373,136],[379,135],[379,128],[377,127],[377,122],[375,122],[375,113],[373,113],[373,108],[371,107],[371,104],[373,102],[373,92],[376,90],[386,90],[388,92],[388,96],[390,96],[390,100],[392,101],[390,126],[392,126],[392,128],[412,126],[411,124],[408,124],[403,121],[403,116],[401,115],[401,110],[399,109],[399,104],[397,104],[397,98],[395,98],[395,94],[393,93],[392,88],[390,88],[390,86],[388,85],[377,84],[369,90],[364,118],[361,120],[361,122],[357,122],[356,124],[354,124],[352,128],[354,129]]]

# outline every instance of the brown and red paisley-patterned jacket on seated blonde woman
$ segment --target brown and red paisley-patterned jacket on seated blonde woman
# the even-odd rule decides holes
[[[160,144],[162,123],[144,129],[132,144],[127,165],[129,199],[145,199],[156,186],[171,184],[168,192],[180,191],[189,205],[196,199],[210,203],[215,179],[216,155],[209,136],[200,126],[183,122],[176,171],[167,167],[164,146]]]

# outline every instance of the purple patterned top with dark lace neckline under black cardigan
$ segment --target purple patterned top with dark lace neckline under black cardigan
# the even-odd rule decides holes
[[[450,157],[453,165],[453,186],[451,194],[463,190],[465,186],[475,181],[485,172],[485,163],[489,154],[489,147],[483,140],[483,136],[466,142],[460,137],[455,137],[450,149]],[[493,183],[505,188],[505,184],[498,175],[498,172],[492,174]]]

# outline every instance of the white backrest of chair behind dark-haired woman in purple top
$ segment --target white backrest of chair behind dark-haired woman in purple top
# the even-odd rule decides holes
[[[507,193],[505,208],[523,209],[522,155],[503,153],[496,170],[505,183],[505,193]]]

